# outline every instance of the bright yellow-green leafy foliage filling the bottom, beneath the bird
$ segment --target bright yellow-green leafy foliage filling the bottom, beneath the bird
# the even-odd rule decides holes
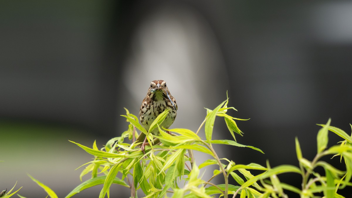
[[[109,197],[109,190],[113,184],[125,186],[130,190],[131,197],[138,197],[137,190],[141,189],[146,198],[172,197],[172,198],[194,198],[194,197],[288,197],[285,192],[291,191],[300,195],[301,198],[315,197],[317,193],[323,193],[326,198],[342,197],[338,190],[346,186],[352,186],[352,136],[346,134],[341,129],[330,126],[329,119],[326,124],[320,124],[322,128],[317,135],[317,154],[312,161],[302,155],[298,138],[295,139],[296,155],[299,166],[280,165],[271,167],[269,161],[266,166],[257,163],[248,165],[236,164],[234,161],[222,158],[216,154],[213,144],[224,144],[234,147],[247,147],[263,153],[262,150],[240,144],[235,139],[235,134],[243,135],[235,120],[246,120],[234,118],[227,114],[233,107],[227,107],[228,99],[222,102],[214,110],[207,109],[207,116],[201,123],[199,129],[194,132],[188,129],[167,129],[172,132],[170,135],[166,129],[161,129],[159,125],[168,113],[166,110],[161,113],[150,127],[158,128],[159,134],[153,135],[146,131],[139,124],[136,116],[126,109],[128,129],[120,137],[109,140],[106,145],[98,149],[96,143],[89,148],[79,143],[70,141],[81,147],[87,153],[93,155],[93,161],[82,166],[86,166],[80,178],[90,174],[90,179],[82,182],[74,188],[66,198],[74,196],[76,193],[89,187],[103,184],[99,198]],[[237,110],[236,110],[237,111]],[[213,140],[214,122],[216,117],[225,120],[228,130],[234,140]],[[206,140],[198,134],[204,126]],[[351,125],[352,128],[352,125]],[[145,154],[136,147],[134,137],[137,137],[136,130],[143,132],[147,136],[150,146],[146,146]],[[339,145],[328,148],[328,131],[332,131],[343,138]],[[132,140],[126,143],[125,139]],[[153,141],[157,138],[160,141]],[[155,144],[151,144],[155,142]],[[199,151],[209,155],[209,159],[197,166],[193,151]],[[328,162],[322,161],[324,156],[340,156],[342,163],[345,163],[346,170],[341,171]],[[202,173],[209,170],[209,166],[215,167],[213,176],[210,179],[203,179]],[[325,175],[316,172],[316,168],[323,168]],[[259,171],[253,175],[251,170]],[[302,188],[299,189],[279,180],[280,174],[300,174],[302,177]],[[215,185],[213,178],[222,177],[224,184]],[[228,183],[232,177],[237,185]],[[32,178],[32,177],[31,177]],[[50,197],[55,197],[55,193],[50,188],[32,178],[48,192]]]

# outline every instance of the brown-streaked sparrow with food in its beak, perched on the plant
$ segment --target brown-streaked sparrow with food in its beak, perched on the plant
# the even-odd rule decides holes
[[[139,110],[139,118],[142,126],[145,130],[149,130],[150,124],[155,118],[162,113],[165,109],[170,109],[170,112],[166,116],[164,122],[160,127],[168,129],[176,118],[177,104],[174,97],[172,97],[166,83],[163,80],[154,80],[150,83],[147,95],[142,101],[142,105]],[[159,132],[158,128],[151,131],[152,134],[157,135]],[[140,146],[144,153],[144,146],[146,143],[145,134],[141,134],[137,138],[137,142],[143,142]]]

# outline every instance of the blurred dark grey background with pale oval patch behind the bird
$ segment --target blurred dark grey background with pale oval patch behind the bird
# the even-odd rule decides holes
[[[45,197],[29,173],[67,195],[91,159],[67,140],[102,147],[159,79],[178,104],[172,127],[196,130],[228,90],[230,114],[251,118],[237,141],[265,154],[219,147],[220,157],[298,166],[294,138],[312,160],[316,123],[351,133],[351,66],[351,1],[0,1],[0,191],[18,181],[22,196]],[[215,124],[215,138],[232,138]],[[329,146],[340,140],[330,134]]]

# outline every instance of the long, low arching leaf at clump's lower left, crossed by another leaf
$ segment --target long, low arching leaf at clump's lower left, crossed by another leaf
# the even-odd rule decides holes
[[[100,184],[104,184],[105,182],[105,179],[106,179],[106,176],[100,176],[100,177],[95,177],[95,178],[92,178],[92,179],[88,179],[87,181],[84,181],[82,184],[78,185],[77,187],[75,187],[65,198],[70,198],[72,196],[74,196],[75,194],[87,189],[87,188],[90,188],[90,187],[93,187],[93,186],[96,186],[96,185],[100,185]],[[125,186],[125,187],[130,187],[126,184],[125,181],[119,179],[119,178],[115,178],[112,182],[113,184],[118,184],[118,185],[121,185],[121,186]]]

